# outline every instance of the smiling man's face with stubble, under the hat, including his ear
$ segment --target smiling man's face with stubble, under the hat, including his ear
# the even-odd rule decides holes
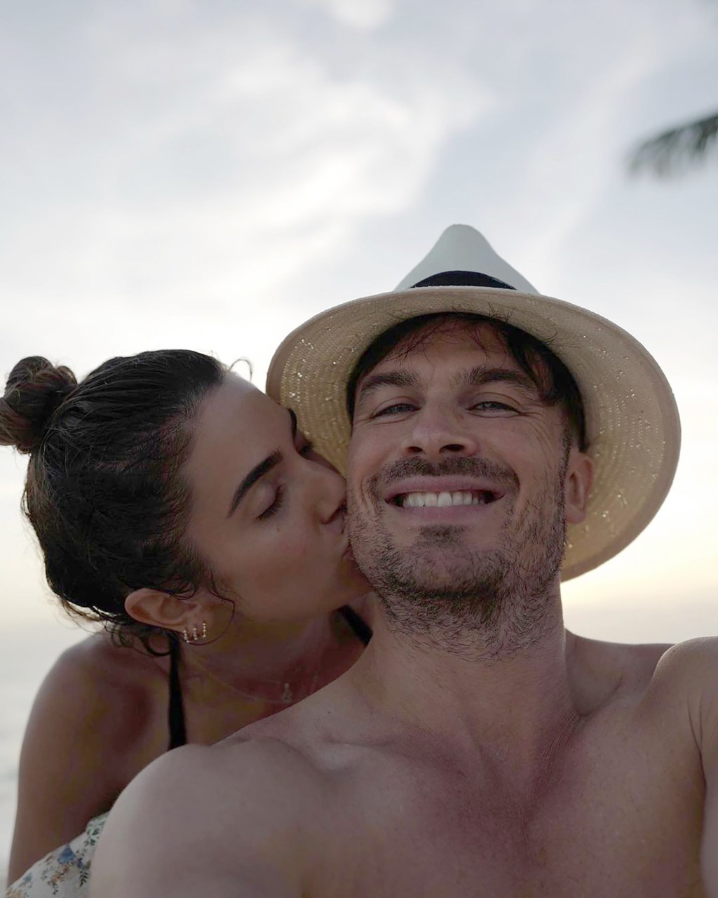
[[[463,609],[486,622],[512,597],[557,588],[565,498],[580,520],[585,463],[567,446],[562,410],[541,401],[489,325],[447,322],[411,345],[357,384],[355,557],[388,603],[403,596],[434,620]]]

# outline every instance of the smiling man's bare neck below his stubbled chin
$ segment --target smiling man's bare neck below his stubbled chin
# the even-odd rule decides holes
[[[529,773],[580,720],[571,682],[574,637],[564,629],[557,595],[547,613],[540,636],[520,650],[471,657],[392,629],[381,611],[370,647],[347,677],[402,731],[431,734],[458,755],[493,754],[506,770]],[[473,638],[480,649],[481,634]]]

